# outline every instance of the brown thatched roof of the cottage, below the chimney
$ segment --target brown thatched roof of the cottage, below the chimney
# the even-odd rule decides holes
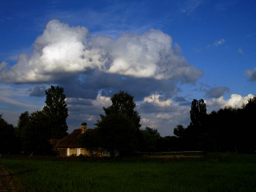
[[[55,148],[78,148],[77,139],[81,134],[81,129],[75,129],[71,134],[60,140]]]

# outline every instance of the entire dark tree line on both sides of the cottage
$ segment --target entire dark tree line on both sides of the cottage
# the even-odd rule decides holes
[[[68,133],[66,96],[60,87],[51,86],[46,93],[46,105],[42,111],[19,117],[14,128],[0,116],[1,153],[49,154],[49,139],[61,139]],[[95,128],[81,134],[80,148],[86,148],[93,156],[97,150],[110,156],[134,156],[136,152],[171,151],[230,151],[255,153],[256,96],[240,108],[225,107],[206,113],[203,99],[191,102],[190,124],[174,128],[174,136],[161,137],[157,129],[146,126],[141,129],[136,103],[129,93],[120,91],[111,98],[112,105],[105,108]],[[19,148],[20,146],[20,148]]]

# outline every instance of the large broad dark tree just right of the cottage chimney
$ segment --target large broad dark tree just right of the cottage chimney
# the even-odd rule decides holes
[[[102,141],[102,148],[111,156],[133,155],[138,146],[140,116],[133,101],[133,96],[120,91],[111,98],[112,105],[103,110],[106,115],[100,115],[101,120],[95,124]]]

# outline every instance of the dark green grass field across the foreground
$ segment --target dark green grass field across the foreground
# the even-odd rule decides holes
[[[219,161],[203,162],[4,158],[2,164],[14,173],[24,191],[256,191],[255,154],[228,154]]]

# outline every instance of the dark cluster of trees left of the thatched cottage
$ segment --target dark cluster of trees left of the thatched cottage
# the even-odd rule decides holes
[[[21,113],[17,127],[8,124],[0,115],[0,153],[52,155],[48,140],[62,139],[68,133],[68,108],[64,89],[51,86],[45,90],[42,111]]]

